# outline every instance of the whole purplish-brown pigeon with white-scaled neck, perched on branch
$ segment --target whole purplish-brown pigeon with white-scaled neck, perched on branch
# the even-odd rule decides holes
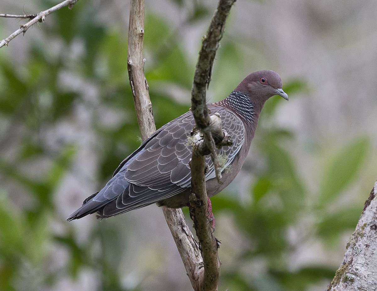
[[[274,95],[288,100],[280,76],[262,70],[248,75],[224,100],[208,104],[212,114],[220,115],[222,129],[234,142],[218,150],[225,157],[222,184],[216,179],[213,162],[206,157],[208,197],[227,187],[238,174],[249,152],[262,107]],[[187,112],[162,126],[121,162],[101,191],[85,199],[83,206],[67,220],[95,212],[101,219],[153,203],[172,208],[188,206],[192,148],[187,139],[194,125],[192,112]]]

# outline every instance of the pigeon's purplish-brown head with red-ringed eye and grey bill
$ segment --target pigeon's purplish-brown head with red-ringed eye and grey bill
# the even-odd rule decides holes
[[[248,75],[235,89],[246,93],[252,103],[264,103],[274,95],[280,95],[288,100],[288,95],[282,89],[282,79],[271,70],[256,71]]]

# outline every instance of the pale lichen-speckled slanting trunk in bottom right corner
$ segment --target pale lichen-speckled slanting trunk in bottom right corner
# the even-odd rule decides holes
[[[356,230],[348,240],[342,265],[327,291],[375,290],[377,286],[377,181],[366,200]]]

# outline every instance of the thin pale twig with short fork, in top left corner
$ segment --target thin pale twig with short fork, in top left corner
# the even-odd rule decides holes
[[[30,17],[23,17],[23,16],[34,16],[29,22],[25,24],[21,24],[20,28],[17,29],[15,32],[13,32],[9,37],[3,39],[0,41],[0,47],[3,46],[8,46],[9,41],[11,41],[13,38],[15,38],[19,34],[25,34],[25,32],[35,23],[38,21],[44,22],[44,19],[46,18],[47,15],[51,14],[52,12],[55,12],[65,6],[68,6],[69,9],[72,9],[73,5],[77,2],[78,0],[65,0],[54,7],[51,7],[45,11],[39,12],[38,14],[30,14],[30,15],[12,15],[12,16],[2,16],[2,17],[16,17],[16,18],[30,18]],[[10,15],[10,14],[1,14],[1,15]]]

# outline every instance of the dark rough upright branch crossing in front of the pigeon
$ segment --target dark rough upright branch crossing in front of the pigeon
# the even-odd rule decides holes
[[[221,129],[220,116],[209,116],[205,95],[211,79],[213,60],[215,59],[216,51],[219,47],[219,41],[224,34],[225,21],[234,2],[235,0],[220,0],[218,3],[207,35],[204,37],[201,51],[199,52],[191,92],[191,111],[193,112],[196,126],[203,135],[204,143],[211,153],[218,181],[221,179],[221,169],[216,155],[216,145],[212,133],[214,131],[217,133],[223,132]],[[221,142],[221,140],[218,142]],[[218,241],[211,231],[211,225],[207,222],[208,197],[205,188],[206,165],[203,154],[204,153],[198,153],[198,151],[195,150],[195,146],[193,147],[192,161],[190,163],[192,177],[192,197],[190,199],[190,205],[192,205],[192,207],[194,206],[194,227],[202,248],[204,262],[204,274],[199,281],[199,290],[215,291],[218,289],[221,264],[218,256]]]

